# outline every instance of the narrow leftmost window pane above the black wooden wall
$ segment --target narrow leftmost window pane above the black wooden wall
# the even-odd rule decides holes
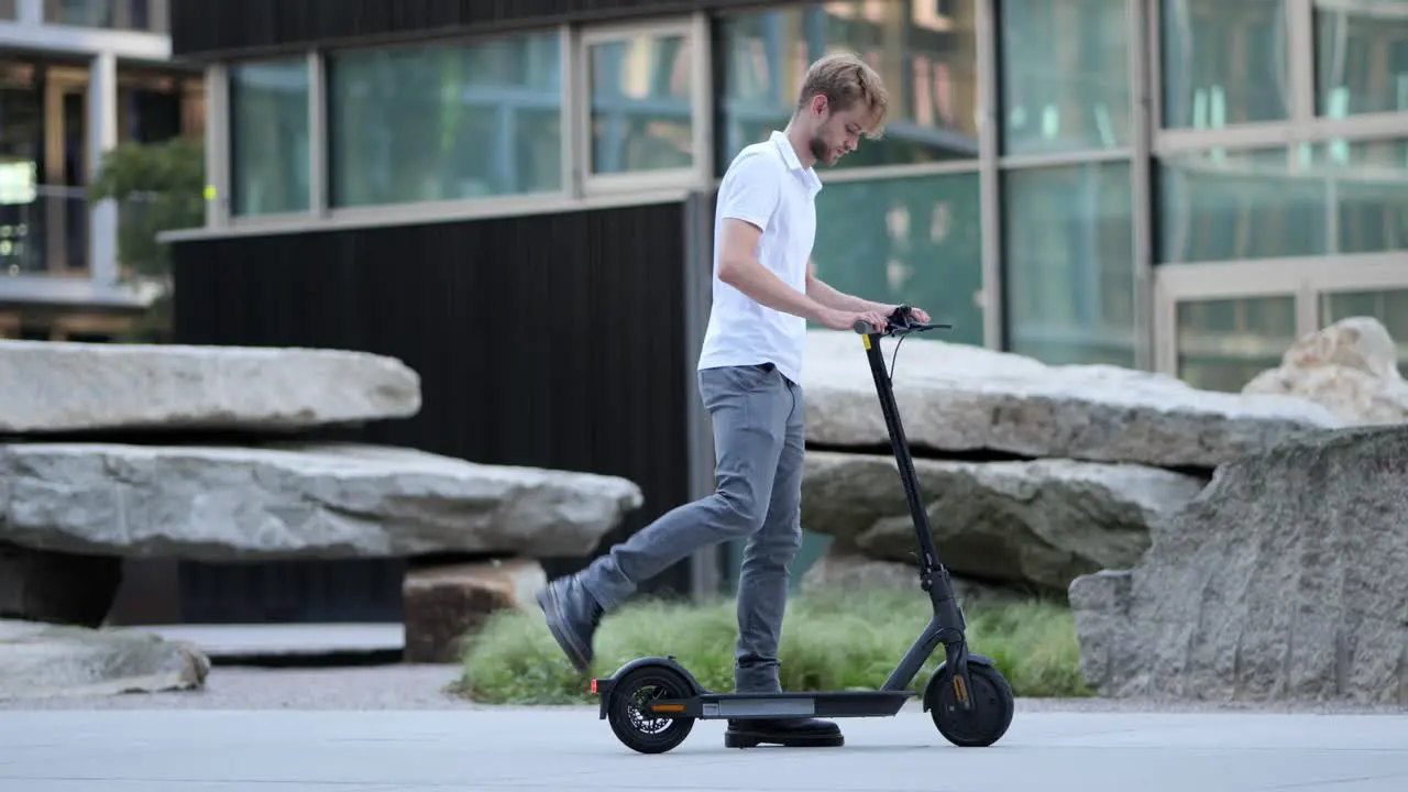
[[[307,59],[231,66],[231,211],[307,211],[308,165]]]

